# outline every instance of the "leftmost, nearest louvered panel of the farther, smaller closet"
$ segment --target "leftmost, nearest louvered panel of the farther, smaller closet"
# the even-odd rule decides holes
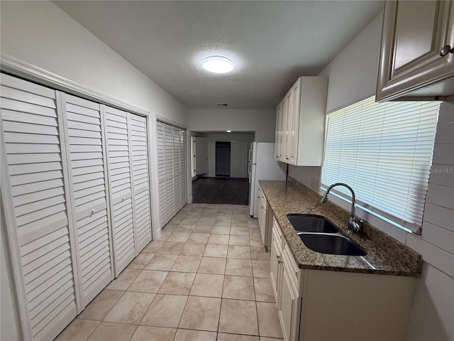
[[[164,123],[156,121],[156,153],[157,153],[157,190],[159,200],[159,221],[160,228],[163,227],[167,219],[166,197],[165,197],[165,139]]]

